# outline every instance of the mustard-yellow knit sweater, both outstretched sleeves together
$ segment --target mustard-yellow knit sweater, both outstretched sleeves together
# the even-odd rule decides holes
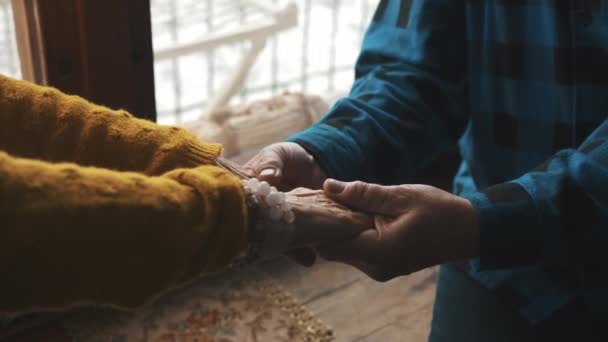
[[[0,312],[134,307],[225,267],[246,247],[247,207],[208,165],[220,153],[0,75]]]

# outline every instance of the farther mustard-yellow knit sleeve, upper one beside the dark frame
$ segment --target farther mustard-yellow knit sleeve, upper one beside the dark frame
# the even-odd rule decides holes
[[[0,75],[0,150],[52,162],[159,175],[221,153],[184,129]]]

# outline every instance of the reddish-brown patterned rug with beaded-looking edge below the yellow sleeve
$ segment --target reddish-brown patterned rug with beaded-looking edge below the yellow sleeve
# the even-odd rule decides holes
[[[331,341],[331,329],[255,271],[201,279],[137,312],[83,307],[22,317],[0,340],[26,342]]]

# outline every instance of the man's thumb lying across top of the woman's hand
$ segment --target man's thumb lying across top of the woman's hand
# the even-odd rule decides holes
[[[390,200],[389,187],[361,181],[346,183],[328,179],[323,184],[323,190],[327,197],[351,209],[373,214],[395,214],[386,205]]]

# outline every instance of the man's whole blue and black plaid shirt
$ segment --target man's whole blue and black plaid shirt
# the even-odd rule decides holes
[[[607,114],[608,1],[383,0],[350,95],[290,140],[381,184],[458,142],[471,275],[531,322],[591,321],[608,318]]]

